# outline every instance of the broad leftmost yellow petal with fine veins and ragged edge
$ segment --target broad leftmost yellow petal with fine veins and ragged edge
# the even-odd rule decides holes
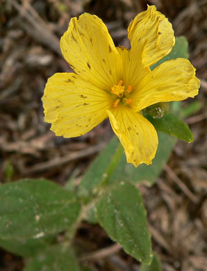
[[[74,73],[51,76],[42,97],[45,121],[56,136],[72,138],[88,133],[113,105],[110,95]]]

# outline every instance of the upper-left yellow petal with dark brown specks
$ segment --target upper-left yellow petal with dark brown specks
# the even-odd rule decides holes
[[[72,18],[60,40],[67,63],[76,74],[100,88],[110,90],[122,75],[122,60],[104,22],[83,13]]]

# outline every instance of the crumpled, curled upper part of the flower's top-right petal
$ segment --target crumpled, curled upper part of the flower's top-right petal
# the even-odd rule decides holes
[[[169,54],[174,46],[172,24],[156,6],[148,6],[129,24],[128,37],[131,42],[131,55],[135,60],[142,60],[145,69]]]

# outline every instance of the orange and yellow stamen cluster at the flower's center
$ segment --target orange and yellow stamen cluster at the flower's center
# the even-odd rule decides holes
[[[128,85],[127,90],[125,90],[125,86],[122,85],[123,81],[120,80],[117,85],[113,85],[111,88],[111,93],[117,95],[117,99],[115,100],[113,107],[117,107],[117,105],[121,102],[122,104],[130,104],[131,99],[129,99],[129,93],[131,92],[131,85]]]

